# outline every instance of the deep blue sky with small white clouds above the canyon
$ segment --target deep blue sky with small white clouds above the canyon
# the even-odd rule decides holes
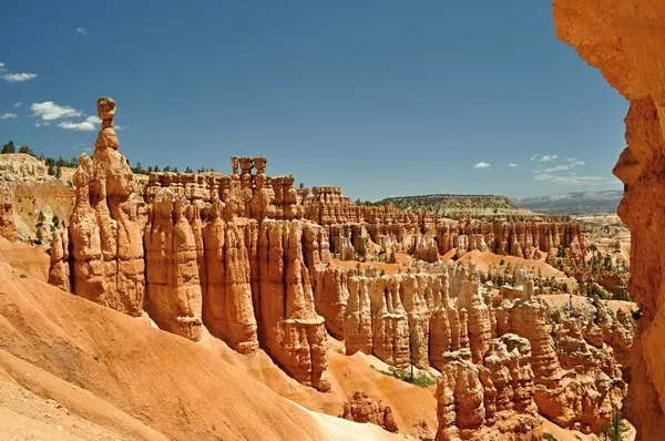
[[[2,143],[78,156],[109,95],[133,165],[265,155],[362,199],[621,188],[627,103],[556,40],[550,1],[9,0],[0,17]]]

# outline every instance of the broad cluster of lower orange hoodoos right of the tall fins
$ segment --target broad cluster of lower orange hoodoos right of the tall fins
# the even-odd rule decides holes
[[[472,398],[477,410],[461,417],[470,422],[459,425],[459,416],[442,411],[450,413],[442,417],[449,421],[441,423],[450,429],[440,430],[446,437],[492,427],[497,418],[508,418],[503,409],[538,409],[560,425],[597,432],[626,394],[612,346],[625,351],[631,335],[625,316],[611,319],[598,305],[593,318],[566,320],[552,334],[548,307],[534,296],[533,281],[520,276],[520,286],[490,293],[473,267],[461,265],[433,264],[398,275],[330,266],[317,275],[315,305],[345,340],[347,355],[372,353],[398,368],[432,366],[469,390],[473,381],[483,384],[480,398]],[[522,356],[513,357],[515,350]],[[453,352],[457,358],[449,356]]]

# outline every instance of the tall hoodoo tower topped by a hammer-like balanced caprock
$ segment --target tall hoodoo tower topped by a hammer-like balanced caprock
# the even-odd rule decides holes
[[[139,317],[145,294],[143,229],[146,206],[130,166],[117,152],[115,102],[98,100],[102,130],[92,158],[74,174],[76,201],[70,221],[74,294]]]

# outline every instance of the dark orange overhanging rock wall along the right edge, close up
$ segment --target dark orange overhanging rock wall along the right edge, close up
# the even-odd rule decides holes
[[[628,145],[613,173],[624,183],[618,215],[631,228],[628,291],[642,312],[631,353],[626,411],[638,439],[665,432],[665,3],[555,0],[556,35],[575,48],[631,104]]]

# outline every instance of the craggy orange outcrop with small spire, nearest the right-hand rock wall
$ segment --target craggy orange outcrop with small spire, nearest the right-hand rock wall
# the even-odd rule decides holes
[[[522,298],[512,305],[504,300],[502,317],[498,319],[500,334],[508,328],[531,343],[530,362],[539,412],[559,425],[597,432],[613,413],[621,410],[621,401],[626,394],[621,371],[613,358],[593,350],[585,342],[576,322],[570,322],[563,332],[563,341],[559,340],[563,345],[562,366],[549,331],[548,309],[531,295],[532,287],[533,281],[528,280]],[[589,359],[594,352],[597,358]]]

